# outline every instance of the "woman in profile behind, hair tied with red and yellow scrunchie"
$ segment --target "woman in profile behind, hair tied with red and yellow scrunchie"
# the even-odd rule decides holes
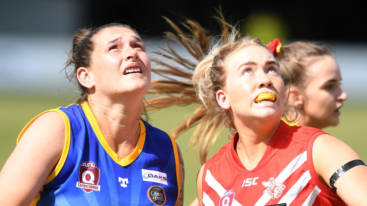
[[[347,95],[340,87],[341,73],[333,54],[304,41],[282,45],[275,39],[268,48],[279,61],[287,104],[302,111],[295,123],[319,129],[338,125],[339,109]],[[286,116],[293,118],[291,112]]]

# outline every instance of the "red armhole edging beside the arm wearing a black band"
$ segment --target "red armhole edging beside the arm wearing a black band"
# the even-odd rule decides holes
[[[322,181],[320,180],[319,176],[316,173],[315,167],[313,166],[313,159],[312,159],[312,148],[313,148],[313,143],[315,142],[316,138],[319,137],[320,135],[323,134],[327,134],[326,132],[317,132],[315,134],[313,134],[307,144],[307,167],[309,169],[310,175],[311,175],[311,179],[313,182],[313,185],[315,187],[315,190],[317,192],[319,192],[320,195],[326,197],[326,198],[331,198],[333,200],[337,199],[337,196],[328,188],[326,187],[326,185],[324,185],[322,183]]]

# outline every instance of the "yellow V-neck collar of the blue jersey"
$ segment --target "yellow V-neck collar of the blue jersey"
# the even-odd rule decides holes
[[[119,164],[121,166],[127,166],[131,162],[133,162],[136,158],[138,158],[139,154],[143,150],[143,146],[144,146],[144,142],[145,142],[145,126],[144,126],[144,123],[141,120],[139,121],[140,136],[139,136],[139,139],[138,139],[138,143],[135,146],[135,150],[130,155],[128,155],[127,157],[121,159],[119,157],[119,155],[117,155],[116,152],[113,151],[112,148],[110,147],[110,145],[108,144],[105,136],[103,135],[103,133],[101,131],[101,128],[99,128],[97,120],[95,119],[89,104],[87,102],[84,102],[83,104],[81,104],[81,108],[83,108],[83,111],[86,114],[86,117],[87,117],[88,121],[90,122],[90,124],[91,124],[91,126],[94,130],[94,133],[95,133],[95,135],[97,136],[97,138],[99,140],[99,143],[101,143],[102,147],[106,150],[108,155],[110,155],[110,157],[113,159],[113,161],[115,161],[117,164]]]

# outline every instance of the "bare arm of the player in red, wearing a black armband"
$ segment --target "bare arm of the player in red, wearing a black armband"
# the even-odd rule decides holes
[[[312,159],[317,175],[331,188],[330,177],[349,161],[360,159],[357,153],[344,142],[330,135],[316,138]],[[347,205],[366,205],[367,166],[359,165],[349,169],[335,182],[337,195]]]

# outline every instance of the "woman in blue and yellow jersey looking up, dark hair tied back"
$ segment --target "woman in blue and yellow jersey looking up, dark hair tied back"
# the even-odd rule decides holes
[[[141,119],[151,79],[137,32],[78,30],[65,70],[80,98],[22,130],[0,173],[1,204],[182,205],[179,148]]]

